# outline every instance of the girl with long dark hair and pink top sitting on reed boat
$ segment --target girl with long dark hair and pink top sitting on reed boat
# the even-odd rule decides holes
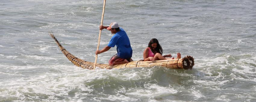
[[[144,61],[155,61],[155,60],[166,60],[166,59],[174,59],[171,58],[172,55],[162,55],[163,49],[162,46],[159,44],[156,38],[153,38],[149,41],[148,47],[143,52]],[[170,57],[170,58],[166,58]],[[177,58],[181,58],[180,53],[177,53]]]

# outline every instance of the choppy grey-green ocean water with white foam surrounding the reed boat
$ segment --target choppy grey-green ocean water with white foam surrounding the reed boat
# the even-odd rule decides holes
[[[192,70],[88,70],[48,36],[94,62],[103,0],[0,0],[0,101],[255,102],[255,0],[106,1],[103,25],[118,22],[133,60],[151,38],[164,54],[195,58]],[[100,49],[113,34],[101,33]],[[108,63],[116,48],[98,55]]]

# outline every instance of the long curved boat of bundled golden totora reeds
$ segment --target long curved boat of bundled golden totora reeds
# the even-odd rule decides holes
[[[76,66],[83,67],[86,69],[93,69],[93,62],[84,61],[80,58],[77,58],[76,56],[69,53],[52,33],[49,33],[49,35],[55,40],[59,48],[61,49],[61,52]],[[129,63],[123,63],[111,66],[109,64],[96,64],[96,67],[100,67],[102,69],[112,69],[112,68],[128,68],[128,67],[152,67],[152,66],[162,66],[167,68],[180,68],[180,69],[192,69],[194,66],[194,58],[192,56],[186,56],[184,58],[179,59],[167,59],[167,60],[158,60],[158,61],[131,61]]]

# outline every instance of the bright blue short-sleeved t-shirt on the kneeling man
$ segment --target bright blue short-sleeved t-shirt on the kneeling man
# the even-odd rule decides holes
[[[130,40],[122,28],[120,28],[120,31],[117,32],[108,43],[109,47],[114,47],[115,45],[117,46],[117,55],[120,58],[130,59],[132,57],[133,49]]]

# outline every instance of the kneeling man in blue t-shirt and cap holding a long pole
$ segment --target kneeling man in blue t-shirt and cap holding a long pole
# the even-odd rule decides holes
[[[108,45],[101,50],[97,50],[95,54],[108,51],[111,47],[117,46],[117,54],[112,56],[108,61],[109,65],[117,65],[122,63],[129,63],[132,60],[133,49],[126,32],[120,28],[117,22],[112,22],[109,26],[100,26],[100,30],[108,29],[111,34],[115,34]]]

